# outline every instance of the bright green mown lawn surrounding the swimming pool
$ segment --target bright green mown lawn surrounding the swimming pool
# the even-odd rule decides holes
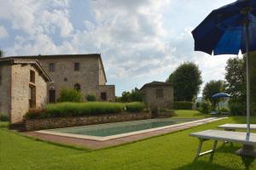
[[[177,111],[177,116],[201,116],[196,111]],[[195,117],[194,116],[194,117]],[[256,117],[252,117],[256,123]],[[218,144],[212,163],[203,156],[192,164],[198,140],[189,133],[215,128],[226,122],[245,123],[242,116],[230,117],[177,133],[145,139],[105,150],[78,150],[22,137],[5,127],[0,128],[0,169],[256,169],[256,161],[234,154],[240,144]],[[206,142],[204,149],[210,149]]]

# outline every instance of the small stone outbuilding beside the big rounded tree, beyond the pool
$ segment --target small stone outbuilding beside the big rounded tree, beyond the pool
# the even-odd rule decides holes
[[[150,108],[167,108],[173,106],[173,87],[170,82],[149,82],[140,89],[143,101]]]

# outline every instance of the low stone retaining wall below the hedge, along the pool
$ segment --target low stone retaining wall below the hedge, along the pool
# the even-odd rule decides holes
[[[120,113],[114,115],[82,116],[82,117],[60,117],[49,119],[26,120],[27,131],[42,130],[49,128],[76,127],[94,125],[109,122],[126,122],[150,119],[150,113]]]

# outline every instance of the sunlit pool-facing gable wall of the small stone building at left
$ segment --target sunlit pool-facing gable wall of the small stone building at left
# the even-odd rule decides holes
[[[30,71],[35,72],[35,83],[30,82]],[[36,88],[36,107],[44,107],[47,83],[32,65],[12,65],[11,123],[21,122],[29,110],[29,85]]]

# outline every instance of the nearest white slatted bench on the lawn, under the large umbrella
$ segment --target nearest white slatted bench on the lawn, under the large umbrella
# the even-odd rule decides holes
[[[212,161],[214,151],[216,150],[216,146],[219,140],[224,142],[227,141],[227,142],[240,143],[240,144],[250,145],[250,146],[256,145],[256,133],[250,133],[249,135],[247,135],[247,133],[239,133],[239,132],[206,130],[206,131],[201,131],[197,133],[190,133],[189,135],[198,138],[200,141],[194,161],[196,161],[199,156],[204,156],[207,154],[211,154],[210,160]],[[201,153],[201,147],[203,142],[211,139],[214,140],[212,150],[207,150]]]

